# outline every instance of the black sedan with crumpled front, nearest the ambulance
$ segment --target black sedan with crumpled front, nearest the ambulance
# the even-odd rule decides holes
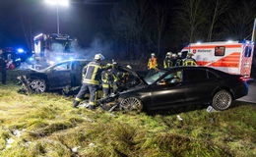
[[[160,70],[141,82],[118,94],[120,109],[142,111],[212,104],[216,110],[225,110],[232,100],[248,93],[247,83],[241,76],[206,67]]]

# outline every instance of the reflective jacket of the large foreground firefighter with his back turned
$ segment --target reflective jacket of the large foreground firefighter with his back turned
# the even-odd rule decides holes
[[[98,85],[101,79],[101,72],[110,68],[111,65],[102,66],[99,62],[90,62],[83,69],[83,83]]]

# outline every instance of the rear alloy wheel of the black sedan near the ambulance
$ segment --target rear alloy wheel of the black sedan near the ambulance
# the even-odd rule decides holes
[[[232,95],[226,90],[218,91],[213,98],[213,107],[216,110],[223,111],[230,107],[232,103]]]

